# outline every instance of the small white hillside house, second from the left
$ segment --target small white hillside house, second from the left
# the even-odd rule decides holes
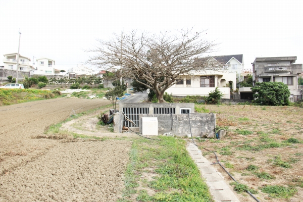
[[[54,60],[39,58],[36,69],[31,70],[30,75],[60,75],[60,70],[56,69]]]

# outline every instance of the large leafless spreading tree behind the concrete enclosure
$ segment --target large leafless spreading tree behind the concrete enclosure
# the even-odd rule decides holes
[[[175,84],[179,75],[222,67],[207,56],[214,52],[216,44],[202,39],[204,34],[192,29],[158,35],[132,31],[123,38],[114,34],[111,40],[98,40],[99,44],[88,51],[96,55],[87,63],[106,70],[121,66],[120,76],[146,85],[155,91],[159,103],[164,103],[165,90]]]

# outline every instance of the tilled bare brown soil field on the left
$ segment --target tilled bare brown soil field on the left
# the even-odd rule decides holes
[[[72,109],[82,108],[81,113],[108,104],[57,98],[0,107],[0,201],[116,201],[129,141],[35,138],[68,118]]]

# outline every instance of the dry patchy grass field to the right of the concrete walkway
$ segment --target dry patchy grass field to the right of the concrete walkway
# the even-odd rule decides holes
[[[228,130],[224,139],[197,142],[209,161],[216,162],[215,155],[204,147],[217,151],[221,163],[239,183],[258,191],[255,195],[260,201],[303,201],[302,108],[249,105],[198,108],[216,113],[217,126]],[[219,165],[214,167],[228,183],[233,182]],[[296,189],[296,193],[291,196],[262,191],[275,185]],[[245,192],[236,195],[241,201],[255,201]]]

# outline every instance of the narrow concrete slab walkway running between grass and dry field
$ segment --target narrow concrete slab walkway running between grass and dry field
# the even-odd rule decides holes
[[[193,143],[189,143],[186,147],[191,158],[194,160],[206,183],[210,188],[211,194],[215,201],[237,201],[239,199],[225,183],[221,174],[219,174],[211,165],[211,163],[202,156],[201,151]]]

